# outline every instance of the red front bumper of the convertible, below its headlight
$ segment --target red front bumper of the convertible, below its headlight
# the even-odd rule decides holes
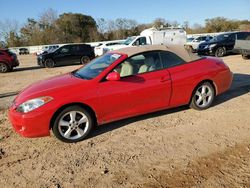
[[[17,133],[23,137],[41,137],[50,135],[50,119],[53,112],[34,110],[19,113],[14,107],[9,109],[9,120]]]

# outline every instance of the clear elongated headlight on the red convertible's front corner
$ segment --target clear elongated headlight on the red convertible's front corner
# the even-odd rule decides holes
[[[16,111],[17,112],[21,112],[21,113],[28,113],[32,110],[35,110],[37,108],[39,108],[40,106],[50,102],[51,100],[53,100],[52,97],[39,97],[39,98],[35,98],[35,99],[31,99],[28,100],[22,104],[20,104]]]

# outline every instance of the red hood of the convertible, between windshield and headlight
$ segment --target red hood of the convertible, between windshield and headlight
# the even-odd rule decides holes
[[[67,96],[71,88],[78,88],[78,85],[84,86],[89,82],[73,76],[71,73],[52,77],[47,80],[31,84],[22,90],[15,99],[17,105],[33,98],[42,96],[56,97],[56,95]],[[74,87],[76,86],[76,87]]]

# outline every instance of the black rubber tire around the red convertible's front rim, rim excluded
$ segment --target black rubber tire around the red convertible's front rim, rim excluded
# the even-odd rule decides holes
[[[87,116],[88,120],[89,120],[89,128],[86,131],[86,133],[81,138],[78,138],[78,139],[75,139],[75,140],[70,140],[70,139],[67,139],[67,138],[63,137],[61,135],[61,133],[59,132],[59,129],[58,129],[58,122],[59,122],[60,118],[65,113],[68,113],[70,111],[80,111],[80,112],[84,113]],[[93,125],[94,125],[94,120],[93,120],[93,117],[91,116],[91,114],[89,113],[89,111],[85,110],[84,108],[82,108],[82,107],[80,107],[78,105],[73,105],[73,106],[66,107],[60,113],[58,113],[58,115],[56,116],[55,121],[53,123],[52,131],[53,131],[55,137],[58,138],[59,140],[61,140],[63,142],[67,142],[67,143],[74,143],[74,142],[79,142],[79,141],[84,140],[89,135],[90,131],[93,128]]]

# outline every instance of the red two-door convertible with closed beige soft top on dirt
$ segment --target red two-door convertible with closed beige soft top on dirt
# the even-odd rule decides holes
[[[207,109],[231,82],[221,59],[163,45],[124,48],[29,86],[9,118],[24,137],[52,130],[61,141],[77,142],[95,125],[187,104]]]

